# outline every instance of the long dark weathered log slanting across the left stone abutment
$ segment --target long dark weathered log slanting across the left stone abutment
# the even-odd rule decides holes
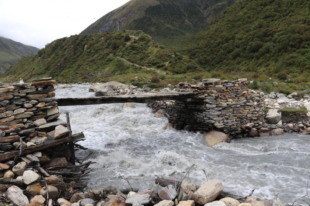
[[[41,151],[43,149],[53,148],[57,145],[66,144],[66,143],[69,143],[70,141],[78,140],[81,138],[84,138],[83,133],[78,133],[78,134],[71,135],[69,137],[57,139],[54,141],[49,141],[49,142],[43,143],[41,145],[25,148],[25,149],[23,149],[21,155],[30,154],[33,152]],[[10,159],[14,159],[17,155],[19,155],[19,153],[20,153],[20,151],[14,151],[14,152],[7,152],[7,153],[0,154],[0,161],[4,162],[4,161],[10,160]]]

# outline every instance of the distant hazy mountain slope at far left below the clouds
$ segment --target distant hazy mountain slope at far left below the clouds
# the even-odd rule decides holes
[[[0,74],[13,66],[21,56],[36,55],[39,50],[0,36]]]

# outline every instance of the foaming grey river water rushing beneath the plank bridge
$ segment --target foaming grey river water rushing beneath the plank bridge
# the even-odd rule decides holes
[[[56,90],[56,97],[94,96],[89,86],[74,85]],[[281,187],[286,201],[292,203],[306,194],[310,180],[310,136],[285,134],[279,137],[233,139],[207,147],[202,134],[165,130],[166,118],[155,118],[145,104],[135,103],[134,109],[123,104],[60,107],[70,113],[73,133],[84,132],[86,140],[79,143],[89,148],[78,155],[94,154],[89,160],[94,170],[87,184],[92,188],[108,185],[117,188],[155,189],[155,178],[181,178],[188,169],[189,180],[202,185],[206,177],[219,179],[224,190],[246,196],[254,194],[273,199]]]

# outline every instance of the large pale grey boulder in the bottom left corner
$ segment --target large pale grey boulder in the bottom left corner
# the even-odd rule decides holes
[[[24,195],[23,191],[15,185],[7,189],[6,198],[15,206],[26,206],[29,204],[29,200],[26,195]]]

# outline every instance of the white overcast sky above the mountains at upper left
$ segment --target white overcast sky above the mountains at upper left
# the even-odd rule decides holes
[[[45,47],[53,40],[79,34],[129,0],[0,0],[0,36]]]

